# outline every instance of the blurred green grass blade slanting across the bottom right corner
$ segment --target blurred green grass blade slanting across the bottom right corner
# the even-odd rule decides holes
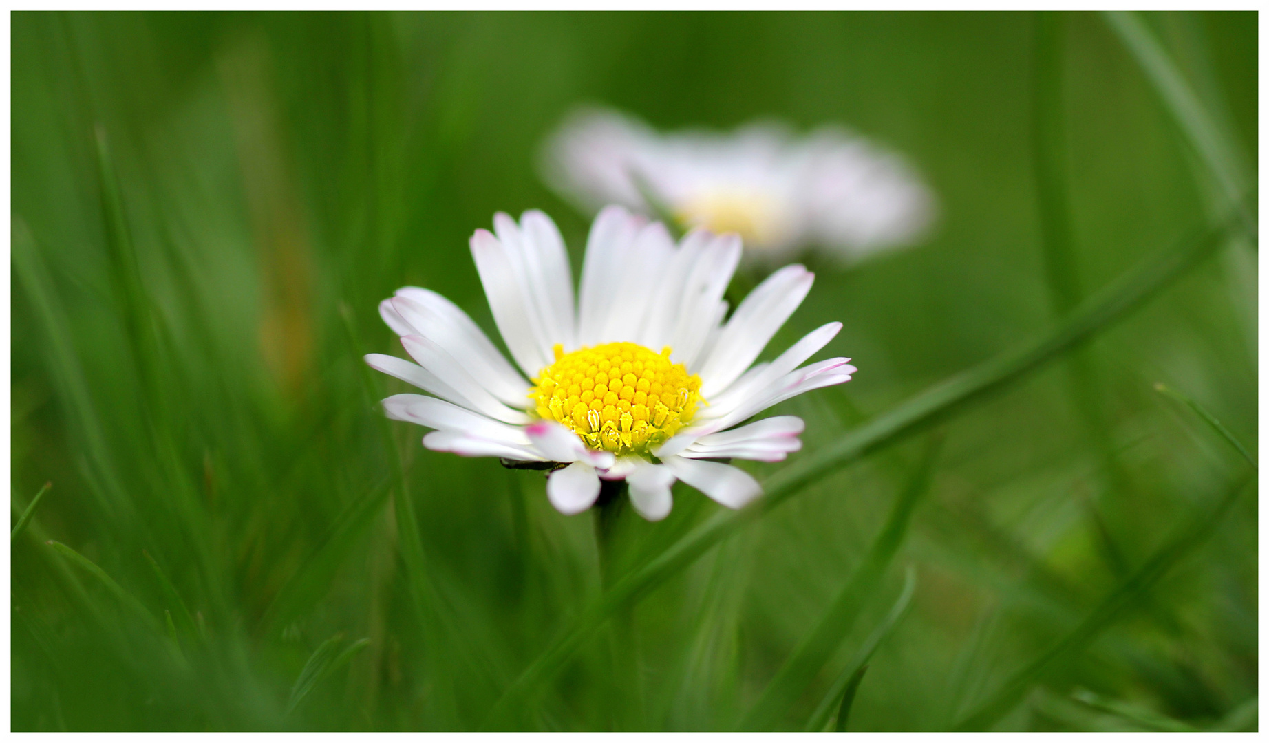
[[[973,714],[957,723],[953,729],[962,732],[987,730],[1000,718],[1009,714],[1014,705],[1027,695],[1030,687],[1049,668],[1082,650],[1101,630],[1118,619],[1124,610],[1142,598],[1150,587],[1159,582],[1173,565],[1211,536],[1216,531],[1221,517],[1239,500],[1239,496],[1247,489],[1247,483],[1249,479],[1239,481],[1208,512],[1187,519],[1171,539],[1165,541],[1145,564],[1137,568],[1114,591],[1103,598],[1084,621],[1052,648],[1014,673]]]

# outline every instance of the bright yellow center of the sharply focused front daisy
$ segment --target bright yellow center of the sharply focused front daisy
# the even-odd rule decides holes
[[[555,356],[529,398],[543,420],[563,423],[591,449],[646,456],[704,402],[700,377],[670,361],[670,346],[656,354],[618,342],[565,354],[556,344]]]

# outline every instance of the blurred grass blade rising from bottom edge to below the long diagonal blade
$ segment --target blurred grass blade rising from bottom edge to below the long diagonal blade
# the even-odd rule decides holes
[[[806,691],[824,664],[832,658],[841,640],[850,633],[855,619],[868,601],[876,595],[882,576],[898,552],[900,544],[907,536],[907,526],[912,521],[916,502],[929,489],[934,474],[934,462],[938,459],[942,436],[931,436],[904,491],[895,500],[886,525],[873,541],[863,562],[846,581],[829,610],[807,634],[793,653],[784,661],[775,677],[763,691],[749,714],[740,723],[742,730],[770,730],[775,728],[789,706]],[[840,692],[839,692],[840,694]]]

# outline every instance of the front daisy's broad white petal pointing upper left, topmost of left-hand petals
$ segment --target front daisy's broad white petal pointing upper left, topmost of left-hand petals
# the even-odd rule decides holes
[[[396,314],[415,328],[414,332],[404,335],[431,340],[445,349],[490,394],[506,404],[524,406],[529,383],[506,363],[485,333],[461,309],[453,308],[466,322],[459,321],[458,316],[443,316],[407,295],[398,295],[391,302]]]

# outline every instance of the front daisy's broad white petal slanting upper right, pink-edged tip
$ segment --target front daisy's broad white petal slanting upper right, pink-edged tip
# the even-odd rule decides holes
[[[706,399],[726,389],[758,359],[775,331],[802,304],[813,281],[815,274],[805,266],[784,266],[745,297],[699,366],[700,394]]]

